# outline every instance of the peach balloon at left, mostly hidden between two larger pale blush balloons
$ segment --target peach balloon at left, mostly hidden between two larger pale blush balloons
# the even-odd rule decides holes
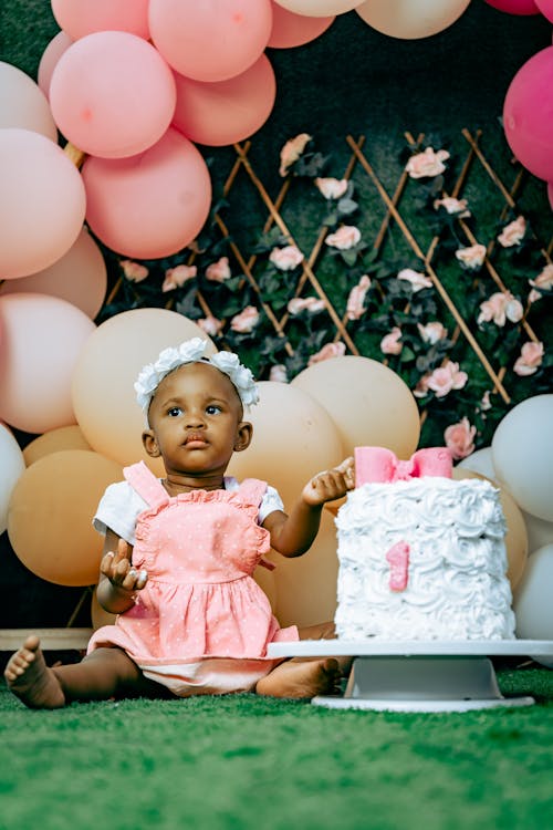
[[[107,270],[102,251],[86,228],[59,260],[42,271],[9,280],[0,288],[0,295],[38,293],[67,300],[92,320],[96,317],[107,287]]]

